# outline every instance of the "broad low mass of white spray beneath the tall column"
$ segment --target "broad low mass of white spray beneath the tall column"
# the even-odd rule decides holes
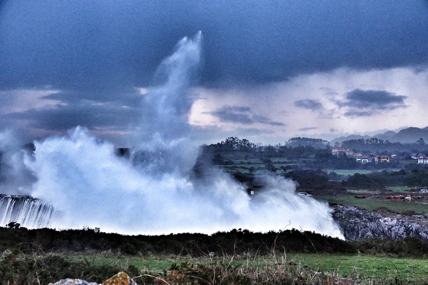
[[[290,228],[341,237],[327,204],[297,196],[291,180],[267,177],[266,188],[250,197],[220,170],[203,180],[159,176],[140,171],[114,151],[82,128],[36,143],[35,160],[26,163],[38,178],[33,197],[62,212],[53,226],[162,234],[268,231],[291,223]]]

